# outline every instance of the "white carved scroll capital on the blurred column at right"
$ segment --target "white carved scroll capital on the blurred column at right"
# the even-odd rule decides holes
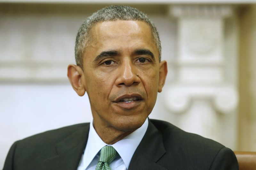
[[[192,105],[192,100],[209,100],[215,111],[228,114],[235,111],[238,96],[235,86],[184,86],[170,87],[165,95],[166,106],[174,113],[184,113]]]

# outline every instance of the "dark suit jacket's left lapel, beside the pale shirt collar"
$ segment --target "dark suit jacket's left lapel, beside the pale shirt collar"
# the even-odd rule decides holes
[[[81,127],[56,144],[56,155],[44,160],[43,170],[76,170],[87,143],[89,127],[90,124]]]

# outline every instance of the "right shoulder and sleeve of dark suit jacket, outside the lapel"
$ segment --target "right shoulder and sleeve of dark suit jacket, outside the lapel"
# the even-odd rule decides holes
[[[161,134],[166,150],[163,157],[158,160],[159,164],[177,169],[215,169],[220,165],[223,168],[217,169],[238,169],[234,152],[224,145],[186,132],[169,122],[150,121]]]

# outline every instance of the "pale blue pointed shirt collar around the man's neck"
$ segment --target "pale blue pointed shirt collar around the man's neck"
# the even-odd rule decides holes
[[[116,142],[115,144],[110,145],[110,146],[113,146],[115,150],[118,152],[118,154],[124,161],[124,164],[127,169],[130,165],[130,162],[135,150],[137,149],[138,145],[140,144],[140,141],[142,140],[142,138],[144,137],[147,131],[147,128],[148,128],[148,119],[145,120],[145,122],[140,128],[136,129],[134,132],[124,137],[122,140]],[[92,159],[97,155],[100,149],[105,145],[108,145],[108,144],[103,142],[99,137],[99,135],[97,134],[97,132],[95,131],[93,127],[93,119],[92,119],[90,123],[88,140],[87,140],[87,144],[84,151],[84,155],[86,155],[86,159],[83,159],[84,167],[87,168],[89,166],[89,164],[92,162]]]

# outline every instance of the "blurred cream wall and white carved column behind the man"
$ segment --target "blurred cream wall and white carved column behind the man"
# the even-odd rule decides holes
[[[110,4],[144,11],[159,31],[169,72],[149,117],[256,151],[256,1],[0,0],[0,167],[14,141],[91,121],[66,70],[78,28]]]

